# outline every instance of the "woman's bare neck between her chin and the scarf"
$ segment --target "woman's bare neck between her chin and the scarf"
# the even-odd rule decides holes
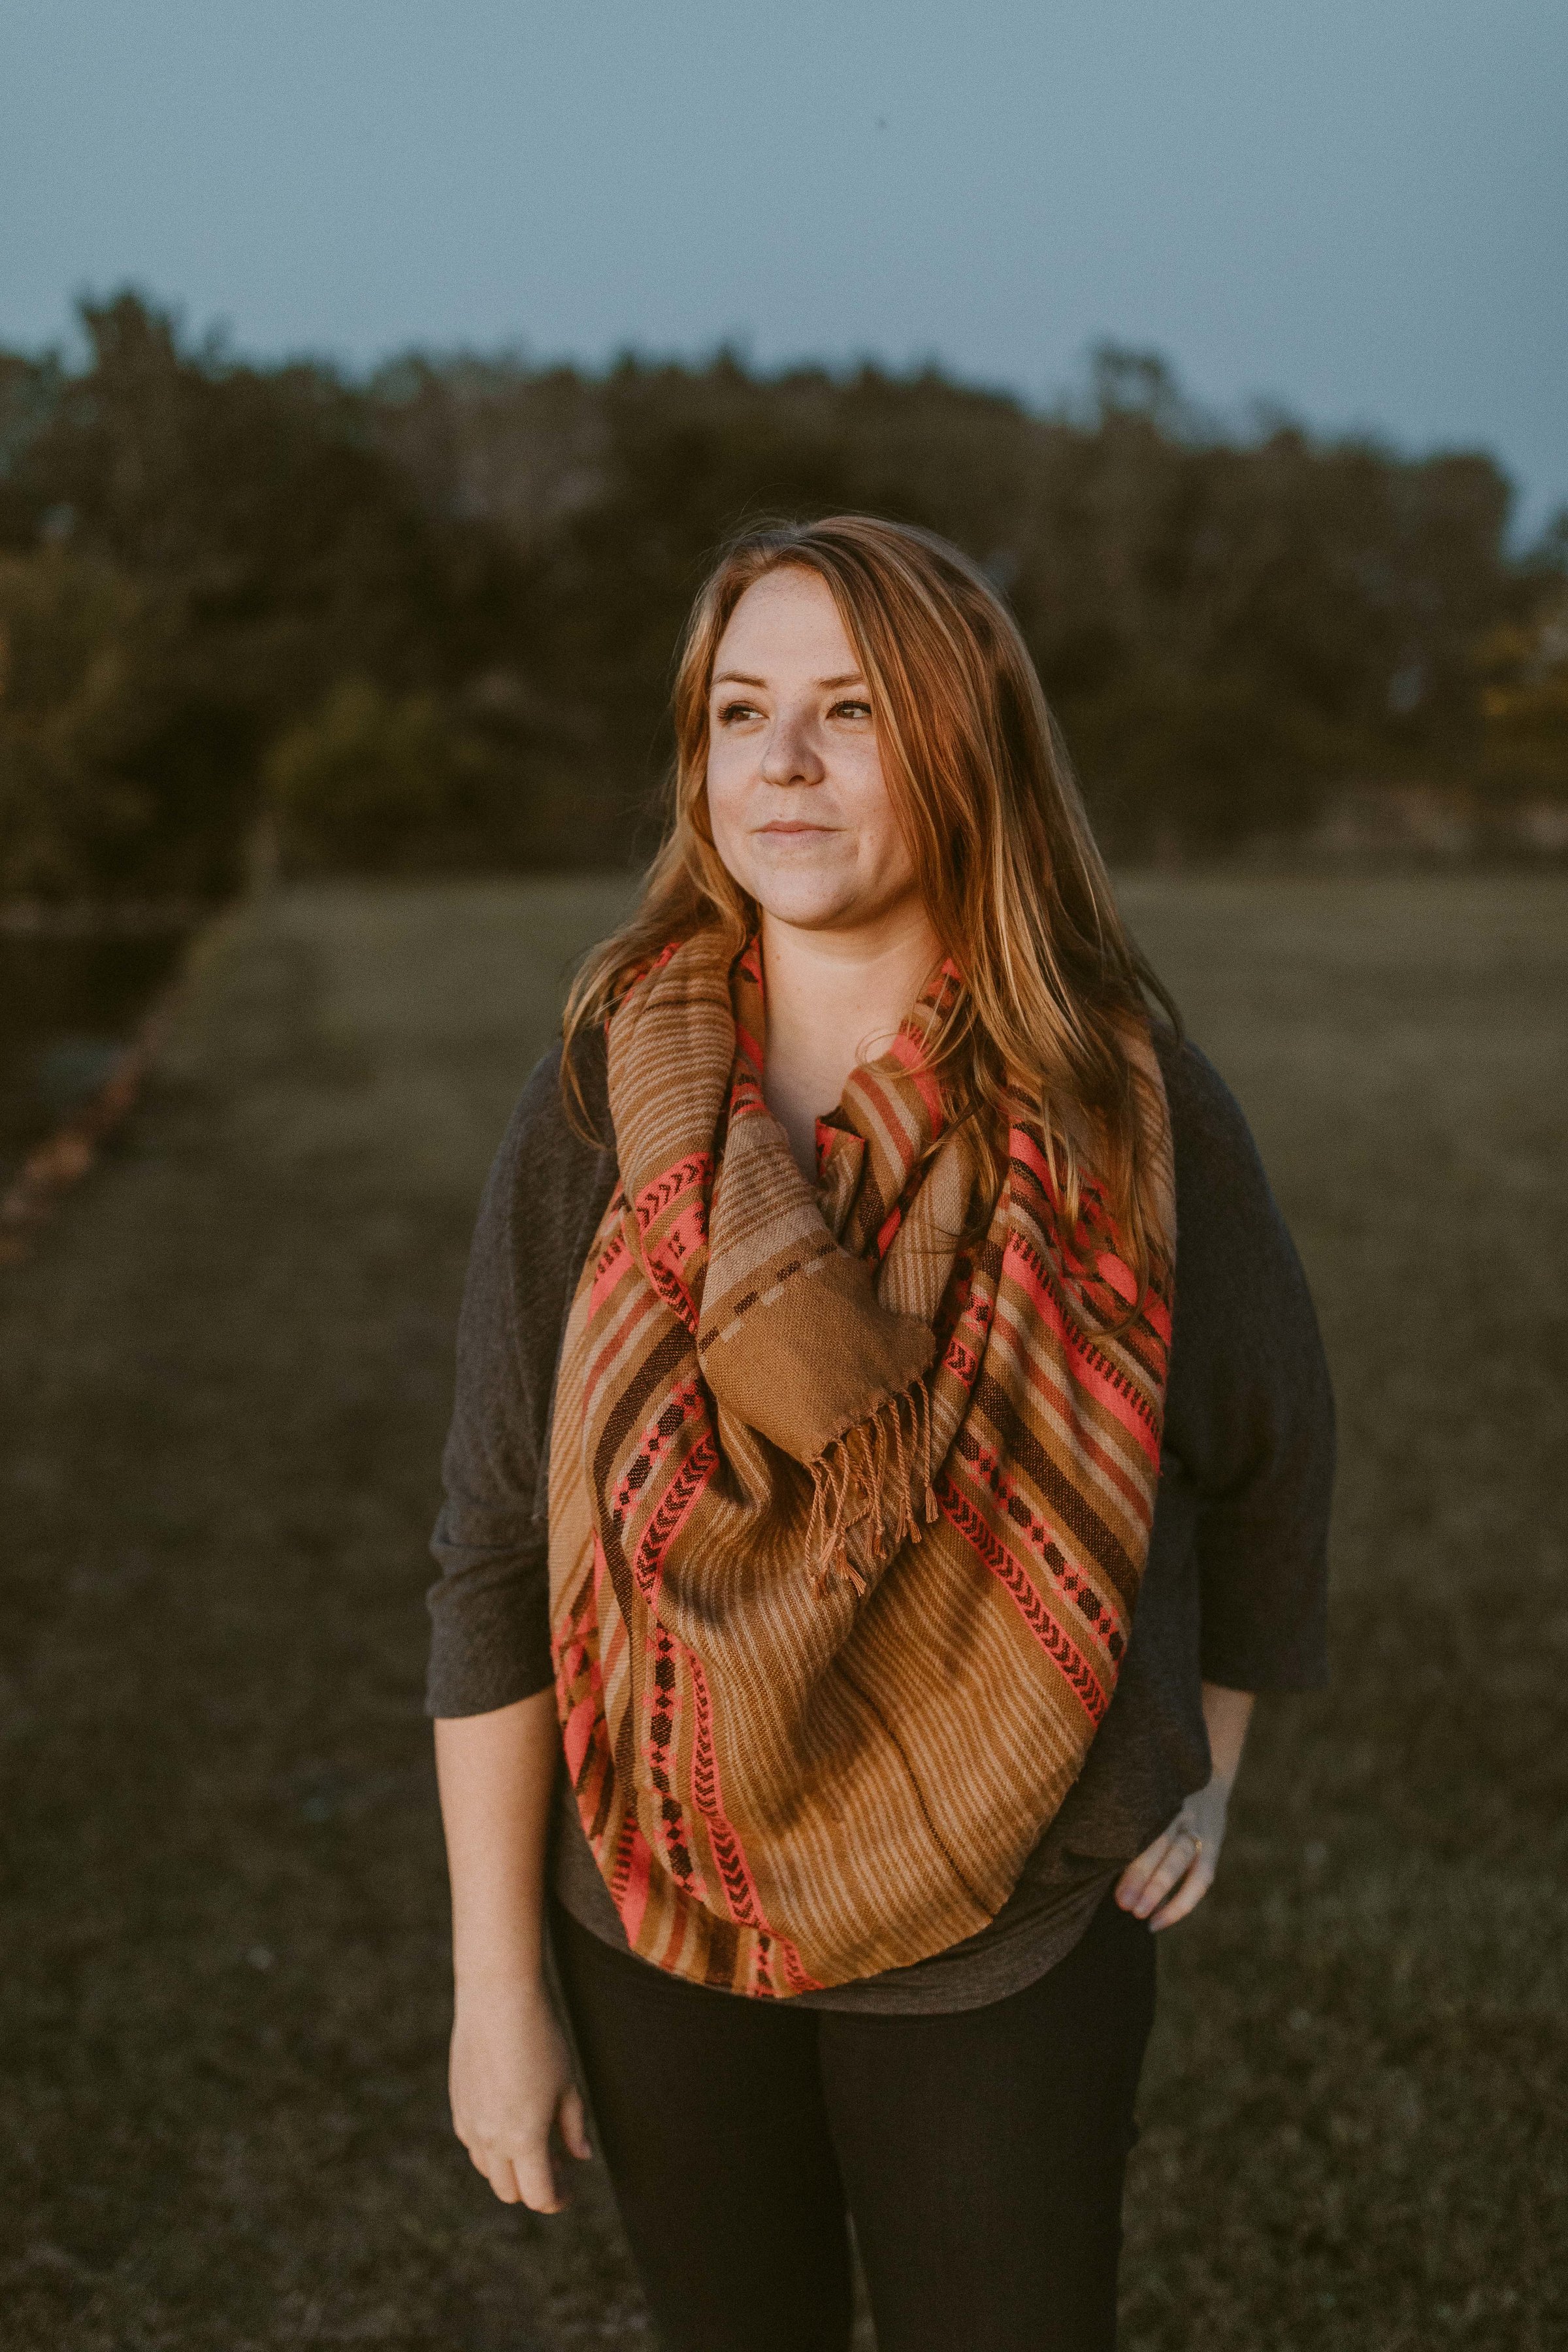
[[[856,1063],[889,1049],[940,953],[917,901],[856,931],[802,931],[764,910],[762,1091],[806,1176],[816,1176],[818,1117],[837,1108]]]

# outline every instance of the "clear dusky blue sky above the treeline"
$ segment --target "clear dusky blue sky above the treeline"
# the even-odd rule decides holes
[[[1157,346],[1568,501],[1563,0],[0,0],[0,341]]]

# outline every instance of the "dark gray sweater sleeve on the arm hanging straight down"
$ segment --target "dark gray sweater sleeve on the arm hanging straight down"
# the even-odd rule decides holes
[[[545,1463],[555,1362],[614,1183],[559,1101],[559,1049],[512,1112],[480,1202],[458,1315],[444,1501],[430,1550],[430,1715],[489,1715],[552,1679]]]

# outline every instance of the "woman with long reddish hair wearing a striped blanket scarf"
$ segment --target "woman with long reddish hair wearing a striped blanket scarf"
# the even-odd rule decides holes
[[[675,727],[463,1305],[456,2131],[588,2154],[550,1943],[672,2352],[844,2347],[846,2213],[882,2352],[1105,2347],[1152,1933],[1324,1675],[1312,1305],[957,550],[738,541]]]

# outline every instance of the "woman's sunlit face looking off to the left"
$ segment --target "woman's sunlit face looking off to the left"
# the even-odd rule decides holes
[[[712,663],[708,731],[712,840],[766,915],[842,931],[917,898],[867,684],[816,572],[780,567],[745,590]]]

